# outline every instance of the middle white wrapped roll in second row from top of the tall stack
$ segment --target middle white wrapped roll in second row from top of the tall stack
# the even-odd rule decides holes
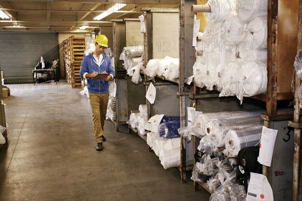
[[[238,44],[245,38],[246,24],[237,15],[230,14],[221,24],[221,42],[224,46]],[[234,43],[236,42],[236,43]],[[229,45],[228,45],[229,44]],[[225,49],[226,47],[224,47]]]

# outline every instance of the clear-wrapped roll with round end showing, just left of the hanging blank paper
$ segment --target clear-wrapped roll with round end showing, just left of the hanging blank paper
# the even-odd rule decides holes
[[[241,130],[229,130],[225,136],[225,149],[231,156],[237,157],[238,152],[246,147],[254,147],[259,145],[261,139],[261,128],[245,131]],[[230,157],[230,156],[229,156]]]

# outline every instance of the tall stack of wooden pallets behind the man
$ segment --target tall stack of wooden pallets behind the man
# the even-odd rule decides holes
[[[63,41],[65,75],[71,88],[81,88],[80,69],[85,54],[85,38],[70,36]]]

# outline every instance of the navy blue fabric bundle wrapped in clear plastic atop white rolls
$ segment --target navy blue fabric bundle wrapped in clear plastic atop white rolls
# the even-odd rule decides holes
[[[172,139],[179,138],[178,128],[180,128],[180,117],[163,117],[160,126],[160,137]]]

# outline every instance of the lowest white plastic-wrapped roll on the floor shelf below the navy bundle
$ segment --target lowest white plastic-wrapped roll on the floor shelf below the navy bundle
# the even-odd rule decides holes
[[[165,170],[172,167],[180,166],[180,149],[172,149],[169,151],[160,151],[160,161]]]

